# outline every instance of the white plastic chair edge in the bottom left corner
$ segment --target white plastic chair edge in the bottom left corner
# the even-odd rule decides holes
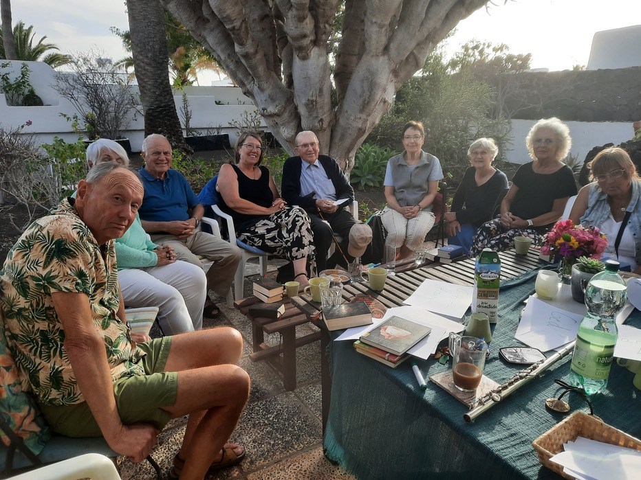
[[[118,470],[109,458],[99,453],[87,453],[79,457],[58,461],[30,472],[23,473],[12,480],[120,480]]]

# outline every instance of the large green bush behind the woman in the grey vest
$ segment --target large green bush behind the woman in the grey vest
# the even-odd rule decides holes
[[[467,150],[479,137],[495,139],[500,163],[501,152],[508,141],[509,123],[501,117],[490,117],[494,102],[492,88],[475,74],[472,65],[475,62],[463,58],[455,63],[446,62],[442,49],[432,52],[425,62],[423,75],[403,85],[396,94],[395,104],[367,141],[398,148],[402,146],[404,124],[417,120],[423,122],[426,130],[423,150],[439,159],[444,174],[449,174],[454,183],[463,178],[470,166]]]

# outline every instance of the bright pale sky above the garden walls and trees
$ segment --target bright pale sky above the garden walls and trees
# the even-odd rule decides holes
[[[109,27],[128,30],[124,0],[12,0],[14,24],[34,25],[36,41],[43,35],[62,52],[97,47],[105,56],[126,56],[120,38]],[[587,65],[595,32],[641,24],[641,0],[494,0],[457,26],[448,40],[452,54],[475,39],[505,43],[512,54],[531,53],[532,68],[550,71]],[[201,78],[200,84],[208,84]]]

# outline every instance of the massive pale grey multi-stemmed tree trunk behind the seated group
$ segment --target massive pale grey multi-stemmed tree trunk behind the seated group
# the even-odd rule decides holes
[[[321,152],[346,172],[402,84],[461,19],[488,3],[345,0],[332,77],[327,41],[339,0],[161,1],[254,100],[290,153],[296,133],[313,130]]]

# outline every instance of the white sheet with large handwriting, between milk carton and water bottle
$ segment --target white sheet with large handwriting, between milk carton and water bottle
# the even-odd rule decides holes
[[[547,352],[576,339],[583,315],[567,312],[530,297],[514,338],[525,345]]]

